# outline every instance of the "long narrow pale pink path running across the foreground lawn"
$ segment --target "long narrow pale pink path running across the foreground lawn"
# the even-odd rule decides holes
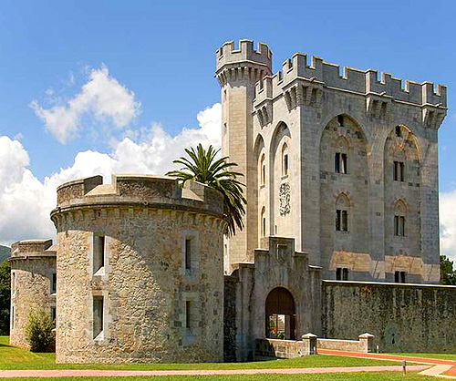
[[[409,366],[409,370],[424,370],[429,366]],[[300,375],[309,373],[358,373],[401,371],[402,366],[347,366],[293,369],[239,369],[239,370],[0,370],[6,377],[114,377],[114,376],[227,376],[227,375]]]

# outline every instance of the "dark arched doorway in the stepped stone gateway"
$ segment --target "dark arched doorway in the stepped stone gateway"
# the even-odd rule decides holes
[[[267,295],[265,320],[267,338],[295,340],[295,300],[284,287],[276,287]]]

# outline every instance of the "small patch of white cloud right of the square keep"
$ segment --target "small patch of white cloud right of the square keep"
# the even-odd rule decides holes
[[[440,193],[440,253],[456,261],[456,190]]]

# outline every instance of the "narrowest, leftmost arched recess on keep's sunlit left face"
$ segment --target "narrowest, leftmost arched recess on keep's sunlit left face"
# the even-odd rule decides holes
[[[262,205],[266,205],[267,201],[267,156],[266,156],[266,149],[264,148],[264,139],[261,134],[258,134],[255,143],[254,143],[254,157],[256,162],[256,176],[254,176],[254,215],[257,216],[256,218],[256,226],[254,227],[254,232],[256,232],[256,241],[258,243],[258,247],[261,246],[261,238],[263,237],[263,213],[264,211],[261,210]],[[252,233],[254,233],[252,232]]]

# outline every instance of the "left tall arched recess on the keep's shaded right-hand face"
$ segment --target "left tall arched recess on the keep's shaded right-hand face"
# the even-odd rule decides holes
[[[360,262],[370,251],[368,140],[355,119],[344,114],[329,120],[321,134],[318,161],[320,263],[329,269],[323,276],[334,279],[342,252]],[[353,271],[357,279],[357,270]]]

